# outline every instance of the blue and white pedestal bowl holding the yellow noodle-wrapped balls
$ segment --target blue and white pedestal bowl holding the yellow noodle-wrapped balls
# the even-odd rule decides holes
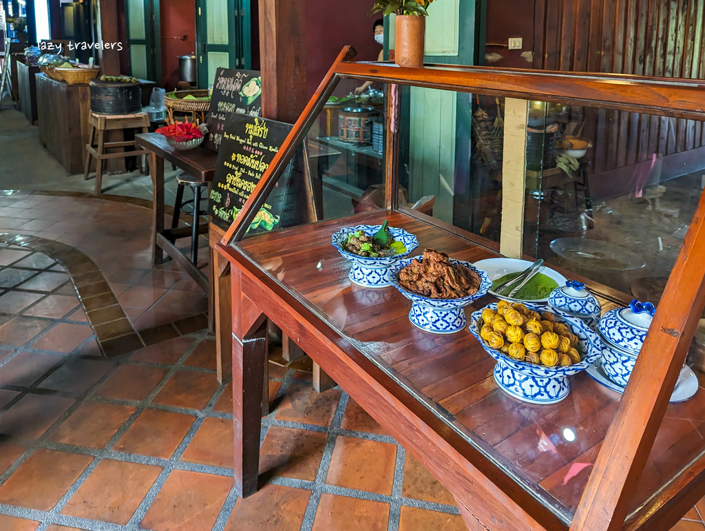
[[[600,340],[587,324],[576,317],[571,317],[543,305],[523,303],[529,310],[551,312],[565,322],[570,331],[578,338],[582,350],[582,360],[568,367],[544,367],[532,363],[513,360],[508,355],[487,346],[480,337],[479,322],[482,310],[473,312],[470,316],[470,333],[475,336],[489,355],[497,360],[494,367],[494,379],[497,385],[506,393],[520,401],[532,404],[553,404],[568,396],[570,384],[568,377],[587,369],[600,356]],[[486,307],[497,310],[496,303]]]

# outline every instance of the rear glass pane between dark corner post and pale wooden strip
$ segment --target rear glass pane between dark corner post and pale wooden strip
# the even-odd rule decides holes
[[[399,181],[409,205],[432,200],[434,218],[498,243],[504,99],[419,87],[403,94]]]

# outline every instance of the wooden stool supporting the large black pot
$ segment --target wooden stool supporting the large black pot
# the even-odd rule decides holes
[[[137,114],[90,114],[90,138],[86,144],[86,162],[85,171],[83,172],[83,180],[88,180],[90,173],[91,157],[96,159],[95,166],[95,193],[103,193],[103,161],[106,159],[122,159],[125,157],[137,157],[137,164],[140,166],[142,173],[142,155],[147,155],[147,149],[137,149],[135,140],[128,142],[106,142],[105,132],[124,129],[140,129],[135,133],[149,133],[149,116],[147,113],[141,112]],[[93,147],[93,142],[98,136],[97,148]],[[111,147],[122,147],[123,151],[118,153],[108,153],[107,150]],[[126,151],[125,147],[134,147],[133,151]]]

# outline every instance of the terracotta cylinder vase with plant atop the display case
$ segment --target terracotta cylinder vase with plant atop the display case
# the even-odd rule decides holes
[[[394,60],[399,66],[423,66],[427,8],[434,0],[376,0],[372,13],[396,14]]]

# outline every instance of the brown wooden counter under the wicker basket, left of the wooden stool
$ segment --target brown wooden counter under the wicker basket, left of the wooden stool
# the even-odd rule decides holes
[[[35,77],[39,142],[68,175],[82,173],[90,133],[90,87],[67,85],[42,73]]]

